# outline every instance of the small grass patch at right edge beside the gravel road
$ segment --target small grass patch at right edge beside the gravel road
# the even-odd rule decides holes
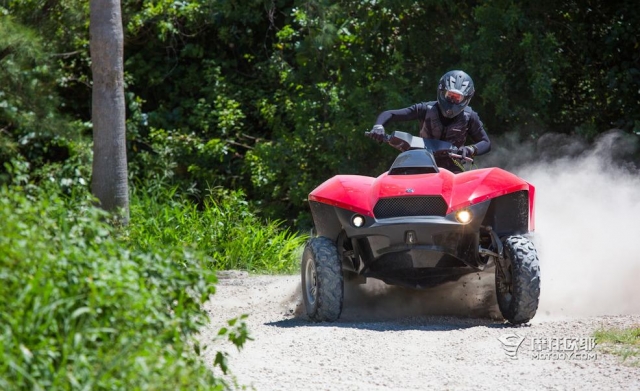
[[[600,329],[594,336],[603,352],[619,356],[629,365],[640,366],[640,326]]]

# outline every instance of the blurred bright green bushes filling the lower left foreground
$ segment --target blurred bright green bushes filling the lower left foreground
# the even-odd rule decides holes
[[[127,246],[86,191],[61,197],[30,184],[19,165],[9,171],[16,184],[0,188],[0,388],[224,389],[191,343],[216,281],[206,257],[171,243]],[[241,347],[243,319],[218,338]]]

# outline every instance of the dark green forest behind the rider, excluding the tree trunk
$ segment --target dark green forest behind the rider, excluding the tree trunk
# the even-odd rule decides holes
[[[124,0],[122,10],[131,186],[178,186],[196,203],[233,189],[300,231],[315,186],[388,167],[393,151],[363,137],[377,114],[434,100],[450,69],[474,79],[471,105],[493,138],[640,133],[640,11],[628,2]],[[0,161],[90,183],[88,2],[3,0],[0,21]]]

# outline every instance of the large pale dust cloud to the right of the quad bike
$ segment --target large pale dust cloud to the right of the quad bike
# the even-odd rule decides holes
[[[637,137],[548,135],[518,148],[537,151],[513,170],[536,186],[537,317],[640,314],[640,171],[627,159]]]

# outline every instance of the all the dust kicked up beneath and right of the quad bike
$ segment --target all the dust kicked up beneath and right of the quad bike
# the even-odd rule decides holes
[[[493,140],[482,167],[536,187],[541,297],[535,320],[640,314],[640,171],[637,137],[610,131],[594,143],[559,134]],[[494,269],[426,290],[369,279],[347,285],[342,320],[398,316],[500,317]],[[300,312],[304,312],[301,308]]]

